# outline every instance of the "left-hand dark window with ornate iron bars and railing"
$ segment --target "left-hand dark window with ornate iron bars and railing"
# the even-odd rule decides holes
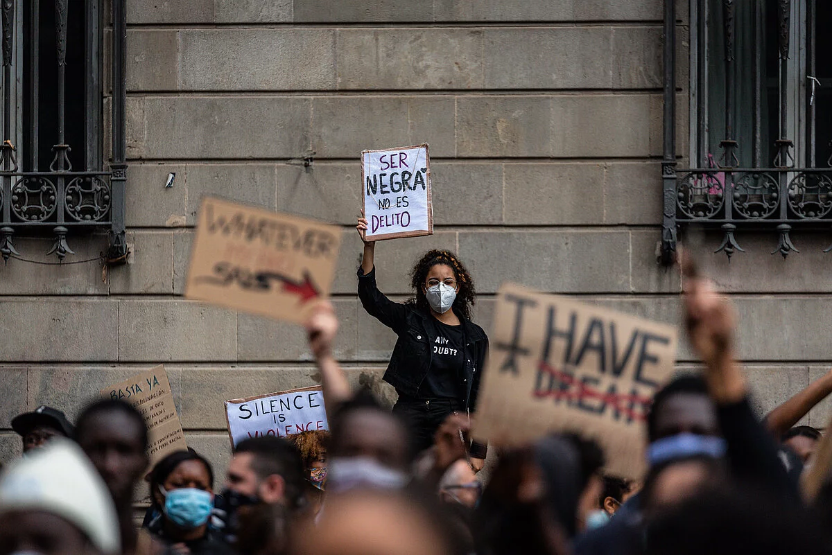
[[[52,234],[50,253],[73,254],[67,235],[106,229],[108,258],[124,243],[124,0],[113,0],[111,160],[103,154],[102,7],[108,0],[2,2],[0,254],[16,234]]]

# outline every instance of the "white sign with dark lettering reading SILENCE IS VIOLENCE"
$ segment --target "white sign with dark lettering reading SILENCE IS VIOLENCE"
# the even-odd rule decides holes
[[[225,421],[232,447],[260,435],[329,430],[321,386],[226,400]]]

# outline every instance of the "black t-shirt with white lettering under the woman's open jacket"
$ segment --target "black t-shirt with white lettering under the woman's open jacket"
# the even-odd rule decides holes
[[[430,346],[430,370],[419,387],[419,395],[459,399],[459,376],[463,375],[465,363],[463,327],[436,323],[438,335]]]

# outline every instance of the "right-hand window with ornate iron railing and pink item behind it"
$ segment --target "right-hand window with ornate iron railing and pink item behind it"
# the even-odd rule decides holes
[[[691,168],[675,167],[666,111],[666,253],[688,223],[721,228],[729,257],[752,226],[779,234],[775,253],[799,252],[794,226],[832,220],[832,2],[701,0],[690,16]]]

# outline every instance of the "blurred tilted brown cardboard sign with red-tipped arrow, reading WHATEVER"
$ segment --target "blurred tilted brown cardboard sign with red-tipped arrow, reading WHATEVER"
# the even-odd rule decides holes
[[[334,225],[204,199],[185,296],[304,323],[329,295],[340,244]]]

